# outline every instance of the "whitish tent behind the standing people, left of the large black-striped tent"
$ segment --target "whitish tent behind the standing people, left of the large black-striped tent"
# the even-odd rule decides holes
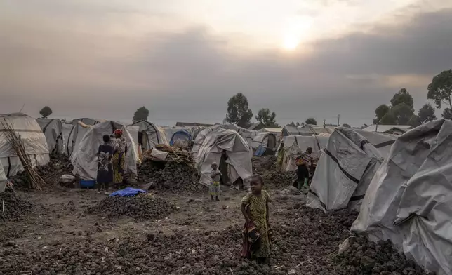
[[[278,154],[277,167],[280,171],[295,171],[297,166],[295,165],[295,159],[298,152],[306,152],[307,147],[312,148],[314,156],[320,156],[321,149],[326,147],[329,136],[305,136],[305,135],[289,135],[283,138],[284,147],[282,154]]]

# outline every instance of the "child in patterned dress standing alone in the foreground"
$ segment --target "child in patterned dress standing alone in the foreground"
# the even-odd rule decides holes
[[[268,203],[272,199],[267,191],[262,190],[263,185],[262,176],[253,175],[251,192],[241,200],[241,213],[245,217],[241,256],[268,264],[271,246]]]

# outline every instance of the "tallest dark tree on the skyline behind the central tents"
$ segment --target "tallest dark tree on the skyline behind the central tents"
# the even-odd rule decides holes
[[[237,93],[227,102],[226,120],[228,123],[248,128],[252,117],[253,112],[248,107],[248,99],[243,93]]]

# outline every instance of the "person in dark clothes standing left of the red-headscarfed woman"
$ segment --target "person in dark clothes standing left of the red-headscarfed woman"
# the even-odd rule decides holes
[[[104,144],[99,145],[98,150],[98,193],[100,193],[100,189],[103,187],[105,194],[108,194],[108,185],[113,181],[112,157],[114,148],[112,145],[109,145],[109,135],[104,135],[102,140],[104,140]]]

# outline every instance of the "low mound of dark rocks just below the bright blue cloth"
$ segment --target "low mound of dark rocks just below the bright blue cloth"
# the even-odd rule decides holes
[[[107,196],[97,206],[88,208],[88,213],[107,214],[108,217],[128,216],[136,220],[155,220],[172,213],[177,208],[152,194],[137,196]]]

